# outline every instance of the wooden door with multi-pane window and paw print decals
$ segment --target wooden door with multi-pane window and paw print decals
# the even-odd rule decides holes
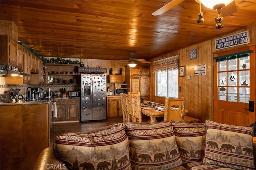
[[[255,117],[255,46],[214,55],[214,121],[250,125]],[[249,101],[254,111],[249,111]]]

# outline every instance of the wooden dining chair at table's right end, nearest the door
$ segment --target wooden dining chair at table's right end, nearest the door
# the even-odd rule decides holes
[[[184,121],[185,98],[165,98],[164,121]]]

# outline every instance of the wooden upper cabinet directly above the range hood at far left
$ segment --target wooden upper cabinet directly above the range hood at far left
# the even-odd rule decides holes
[[[7,35],[1,35],[1,64],[23,68],[23,47]]]

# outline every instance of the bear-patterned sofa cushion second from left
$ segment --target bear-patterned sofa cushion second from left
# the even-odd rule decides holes
[[[126,123],[132,169],[170,170],[182,164],[170,122]]]

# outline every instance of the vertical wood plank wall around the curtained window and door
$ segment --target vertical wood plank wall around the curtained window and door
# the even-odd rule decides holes
[[[250,30],[250,44],[240,45],[238,47],[232,47],[224,50],[215,50],[215,39],[246,30]],[[186,66],[186,76],[179,77],[179,86],[182,88],[182,92],[179,93],[179,97],[184,97],[186,100],[185,109],[188,110],[187,115],[198,118],[204,122],[205,119],[213,120],[213,54],[251,45],[256,45],[256,24],[214,37],[184,49],[158,56],[157,59],[180,55],[180,66]],[[195,48],[198,49],[198,57],[197,59],[190,60],[189,51]],[[194,67],[200,64],[206,64],[206,75],[194,76]],[[187,76],[191,76],[191,79],[188,80]],[[155,96],[155,74],[152,74],[151,76],[150,100],[164,104],[164,98]]]

